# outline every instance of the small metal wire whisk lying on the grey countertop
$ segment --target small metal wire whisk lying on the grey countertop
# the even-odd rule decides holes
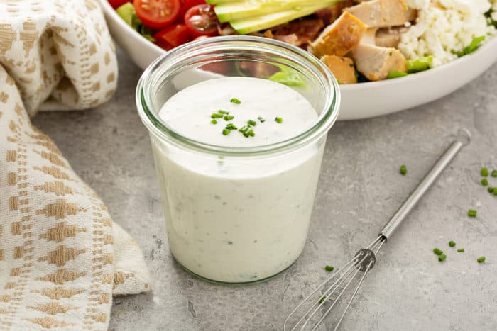
[[[359,281],[354,288],[354,292],[346,305],[344,313],[342,313],[341,317],[337,321],[333,330],[338,330],[340,323],[345,317],[347,310],[349,310],[352,301],[359,291],[364,278],[366,278],[366,274],[370,271],[374,264],[376,263],[376,254],[380,251],[383,244],[388,240],[388,238],[393,235],[393,232],[398,228],[398,226],[403,222],[405,216],[414,208],[417,201],[425,194],[427,189],[433,184],[433,182],[437,179],[439,174],[447,167],[447,164],[452,161],[452,159],[457,155],[457,152],[461,150],[461,147],[469,144],[471,140],[471,133],[469,133],[466,129],[460,129],[457,133],[457,138],[452,142],[452,144],[447,148],[444,154],[438,159],[437,163],[432,167],[430,172],[428,172],[424,179],[416,186],[416,189],[410,196],[404,201],[402,206],[398,208],[398,211],[395,212],[391,220],[386,223],[386,225],[381,229],[380,234],[369,244],[366,248],[359,249],[359,251],[355,254],[354,258],[347,262],[342,268],[337,269],[337,271],[332,274],[326,281],[323,281],[320,286],[315,288],[312,293],[309,294],[294,310],[288,315],[283,324],[283,330],[305,330],[306,327],[312,328],[311,330],[317,330],[324,318],[332,311],[332,308],[337,305],[339,302],[339,298],[342,297],[347,288],[352,284],[354,279],[358,278]],[[361,274],[360,274],[361,273]],[[359,275],[359,277],[358,277]],[[331,285],[327,285],[331,284]],[[318,293],[319,296],[314,300],[313,296],[320,290],[320,288],[326,288],[324,292]],[[305,313],[302,315],[302,318],[298,320],[293,327],[289,327],[290,320],[297,313],[301,307],[303,308],[306,303],[311,304],[310,308],[307,308]],[[328,304],[329,303],[329,304]],[[324,310],[321,318],[317,320],[317,322],[313,322],[316,320],[315,315],[318,311]],[[298,316],[295,318],[297,319]]]

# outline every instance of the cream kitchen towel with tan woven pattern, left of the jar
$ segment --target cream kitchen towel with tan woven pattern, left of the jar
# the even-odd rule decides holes
[[[0,0],[0,330],[106,330],[113,294],[149,289],[136,242],[30,122],[107,101],[116,75],[96,1]]]

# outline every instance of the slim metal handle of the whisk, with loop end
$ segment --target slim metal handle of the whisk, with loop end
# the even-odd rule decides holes
[[[402,206],[398,208],[392,218],[386,223],[386,225],[381,229],[380,235],[390,238],[393,232],[398,228],[398,226],[403,222],[405,216],[416,206],[420,198],[425,194],[425,192],[430,189],[430,186],[435,182],[439,174],[444,171],[445,167],[454,159],[459,150],[465,145],[468,145],[471,141],[471,133],[466,129],[460,129],[457,133],[457,138],[452,144],[447,148],[444,154],[438,159],[437,163],[430,169],[422,179],[420,184],[417,184],[413,193],[404,201]]]

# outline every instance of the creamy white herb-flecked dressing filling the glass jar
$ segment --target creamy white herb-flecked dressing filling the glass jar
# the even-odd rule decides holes
[[[210,123],[219,109],[233,120]],[[226,77],[178,92],[160,118],[188,138],[243,147],[293,138],[316,123],[317,113],[288,86]],[[241,128],[248,120],[257,121],[253,137],[222,134],[226,124]],[[307,238],[325,139],[270,156],[222,157],[152,138],[175,259],[199,276],[229,283],[266,279],[293,264]]]

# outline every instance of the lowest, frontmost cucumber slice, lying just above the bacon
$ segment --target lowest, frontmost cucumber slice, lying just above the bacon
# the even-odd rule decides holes
[[[240,20],[230,21],[231,26],[236,30],[237,33],[241,35],[246,35],[247,33],[252,33],[258,30],[263,30],[266,28],[271,28],[273,26],[278,26],[279,24],[287,23],[294,20],[295,18],[300,18],[302,16],[307,16],[315,11],[326,8],[335,4],[336,0],[325,0],[322,4],[315,6],[304,6],[299,10],[290,9],[288,11],[280,11],[278,13],[270,13],[263,16],[253,16],[249,18],[243,18]]]

